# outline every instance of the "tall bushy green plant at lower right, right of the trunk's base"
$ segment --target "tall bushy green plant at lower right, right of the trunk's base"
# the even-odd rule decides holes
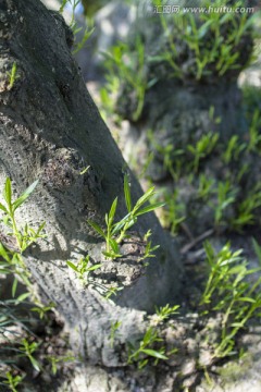
[[[241,250],[232,252],[229,244],[216,254],[206,242],[204,249],[210,273],[200,306],[204,314],[222,313],[221,339],[214,356],[225,357],[234,354],[237,333],[261,307],[261,278],[252,284],[246,279],[261,268],[248,269]]]

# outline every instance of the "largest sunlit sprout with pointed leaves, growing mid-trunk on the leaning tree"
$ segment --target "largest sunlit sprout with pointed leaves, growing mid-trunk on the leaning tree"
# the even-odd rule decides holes
[[[154,203],[152,205],[144,207],[147,201],[156,195],[154,187],[149,188],[144,196],[141,196],[138,201],[133,206],[130,187],[128,184],[128,176],[124,176],[124,196],[125,205],[128,213],[121,219],[119,222],[114,223],[114,217],[117,207],[117,197],[112,203],[109,213],[105,213],[105,231],[96,222],[88,220],[89,225],[95,229],[95,231],[105,240],[107,249],[103,252],[103,255],[108,258],[115,259],[121,257],[120,244],[124,238],[126,238],[127,231],[137,222],[138,217],[153,211],[154,209],[164,206],[164,203]],[[150,255],[151,257],[151,255]]]

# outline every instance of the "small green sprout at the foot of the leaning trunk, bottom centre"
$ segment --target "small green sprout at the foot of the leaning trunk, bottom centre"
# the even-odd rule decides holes
[[[138,369],[142,369],[149,362],[148,357],[154,358],[157,365],[160,359],[169,359],[165,355],[165,347],[159,350],[152,348],[154,343],[162,342],[154,328],[150,327],[142,340],[139,342],[139,347],[136,348],[132,343],[128,343],[128,364],[137,363]]]

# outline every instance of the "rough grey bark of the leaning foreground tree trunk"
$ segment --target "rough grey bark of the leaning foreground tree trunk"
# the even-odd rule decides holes
[[[121,365],[119,345],[108,344],[111,322],[122,321],[117,343],[124,344],[144,330],[144,310],[173,303],[182,272],[177,252],[149,213],[123,245],[124,258],[102,259],[99,281],[124,286],[114,304],[91,287],[83,289],[69,270],[66,260],[78,260],[80,255],[101,261],[103,243],[86,221],[102,222],[115,196],[119,217],[126,212],[126,164],[86,90],[70,52],[71,32],[61,16],[39,0],[1,0],[0,4],[0,185],[9,175],[20,193],[39,179],[17,220],[47,223],[48,241],[27,252],[26,265],[64,317],[74,350],[92,363]],[[14,62],[17,71],[12,86]],[[141,188],[129,175],[137,199]],[[145,268],[137,259],[148,229],[161,248]]]

